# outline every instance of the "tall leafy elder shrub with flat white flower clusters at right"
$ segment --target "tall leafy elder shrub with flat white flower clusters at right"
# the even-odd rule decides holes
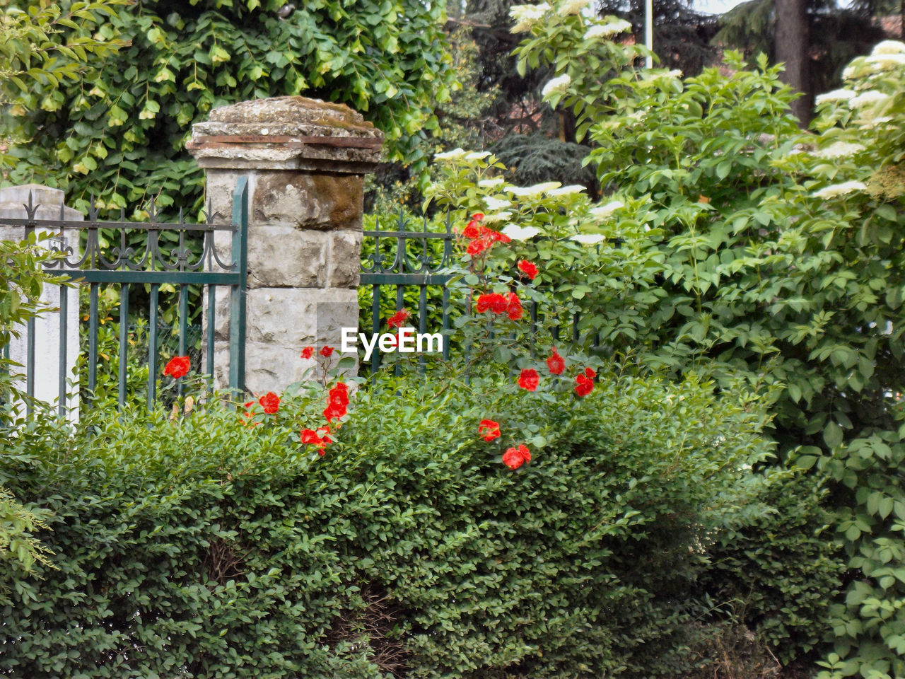
[[[549,11],[519,47],[555,66],[548,99],[576,110],[614,192],[576,267],[608,273],[586,322],[644,365],[774,387],[783,458],[836,482],[857,569],[826,675],[900,676],[905,44],[850,64],[818,98],[817,133],[798,134],[765,58],[729,76],[639,72],[606,40],[617,28]],[[596,81],[599,62],[619,74]]]

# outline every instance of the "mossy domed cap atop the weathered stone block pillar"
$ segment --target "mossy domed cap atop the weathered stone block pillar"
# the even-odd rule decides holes
[[[384,135],[345,104],[305,97],[242,101],[192,126],[200,167],[311,169],[363,175],[381,161]]]

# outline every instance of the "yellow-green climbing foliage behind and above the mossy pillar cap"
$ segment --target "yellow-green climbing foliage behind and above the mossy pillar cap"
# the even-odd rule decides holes
[[[61,3],[65,10],[70,3]],[[129,46],[90,78],[43,78],[16,92],[10,178],[60,186],[73,206],[201,207],[203,175],[186,153],[215,106],[285,94],[340,103],[383,129],[387,155],[424,165],[433,107],[448,98],[442,3],[379,0],[151,0],[119,9],[96,36]],[[292,10],[291,7],[295,6]],[[78,34],[84,33],[80,29]],[[51,33],[49,40],[58,35]],[[38,130],[41,134],[37,134]]]

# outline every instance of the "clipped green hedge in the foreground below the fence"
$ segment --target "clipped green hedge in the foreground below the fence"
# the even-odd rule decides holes
[[[323,457],[299,443],[316,387],[258,426],[211,406],[7,437],[0,483],[54,513],[57,569],[0,571],[0,674],[690,669],[696,580],[769,452],[761,410],[693,383],[603,377],[577,399],[508,381],[359,389]],[[531,462],[500,464],[521,442]]]

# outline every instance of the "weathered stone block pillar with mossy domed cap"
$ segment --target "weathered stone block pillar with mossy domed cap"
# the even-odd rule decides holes
[[[300,381],[313,364],[300,359],[303,347],[338,349],[339,329],[357,328],[363,180],[382,146],[354,110],[304,97],[243,101],[193,126],[187,148],[205,168],[215,223],[231,219],[236,180],[249,179],[250,391]],[[218,248],[228,249],[225,234]],[[214,378],[223,387],[228,308],[217,307]]]

